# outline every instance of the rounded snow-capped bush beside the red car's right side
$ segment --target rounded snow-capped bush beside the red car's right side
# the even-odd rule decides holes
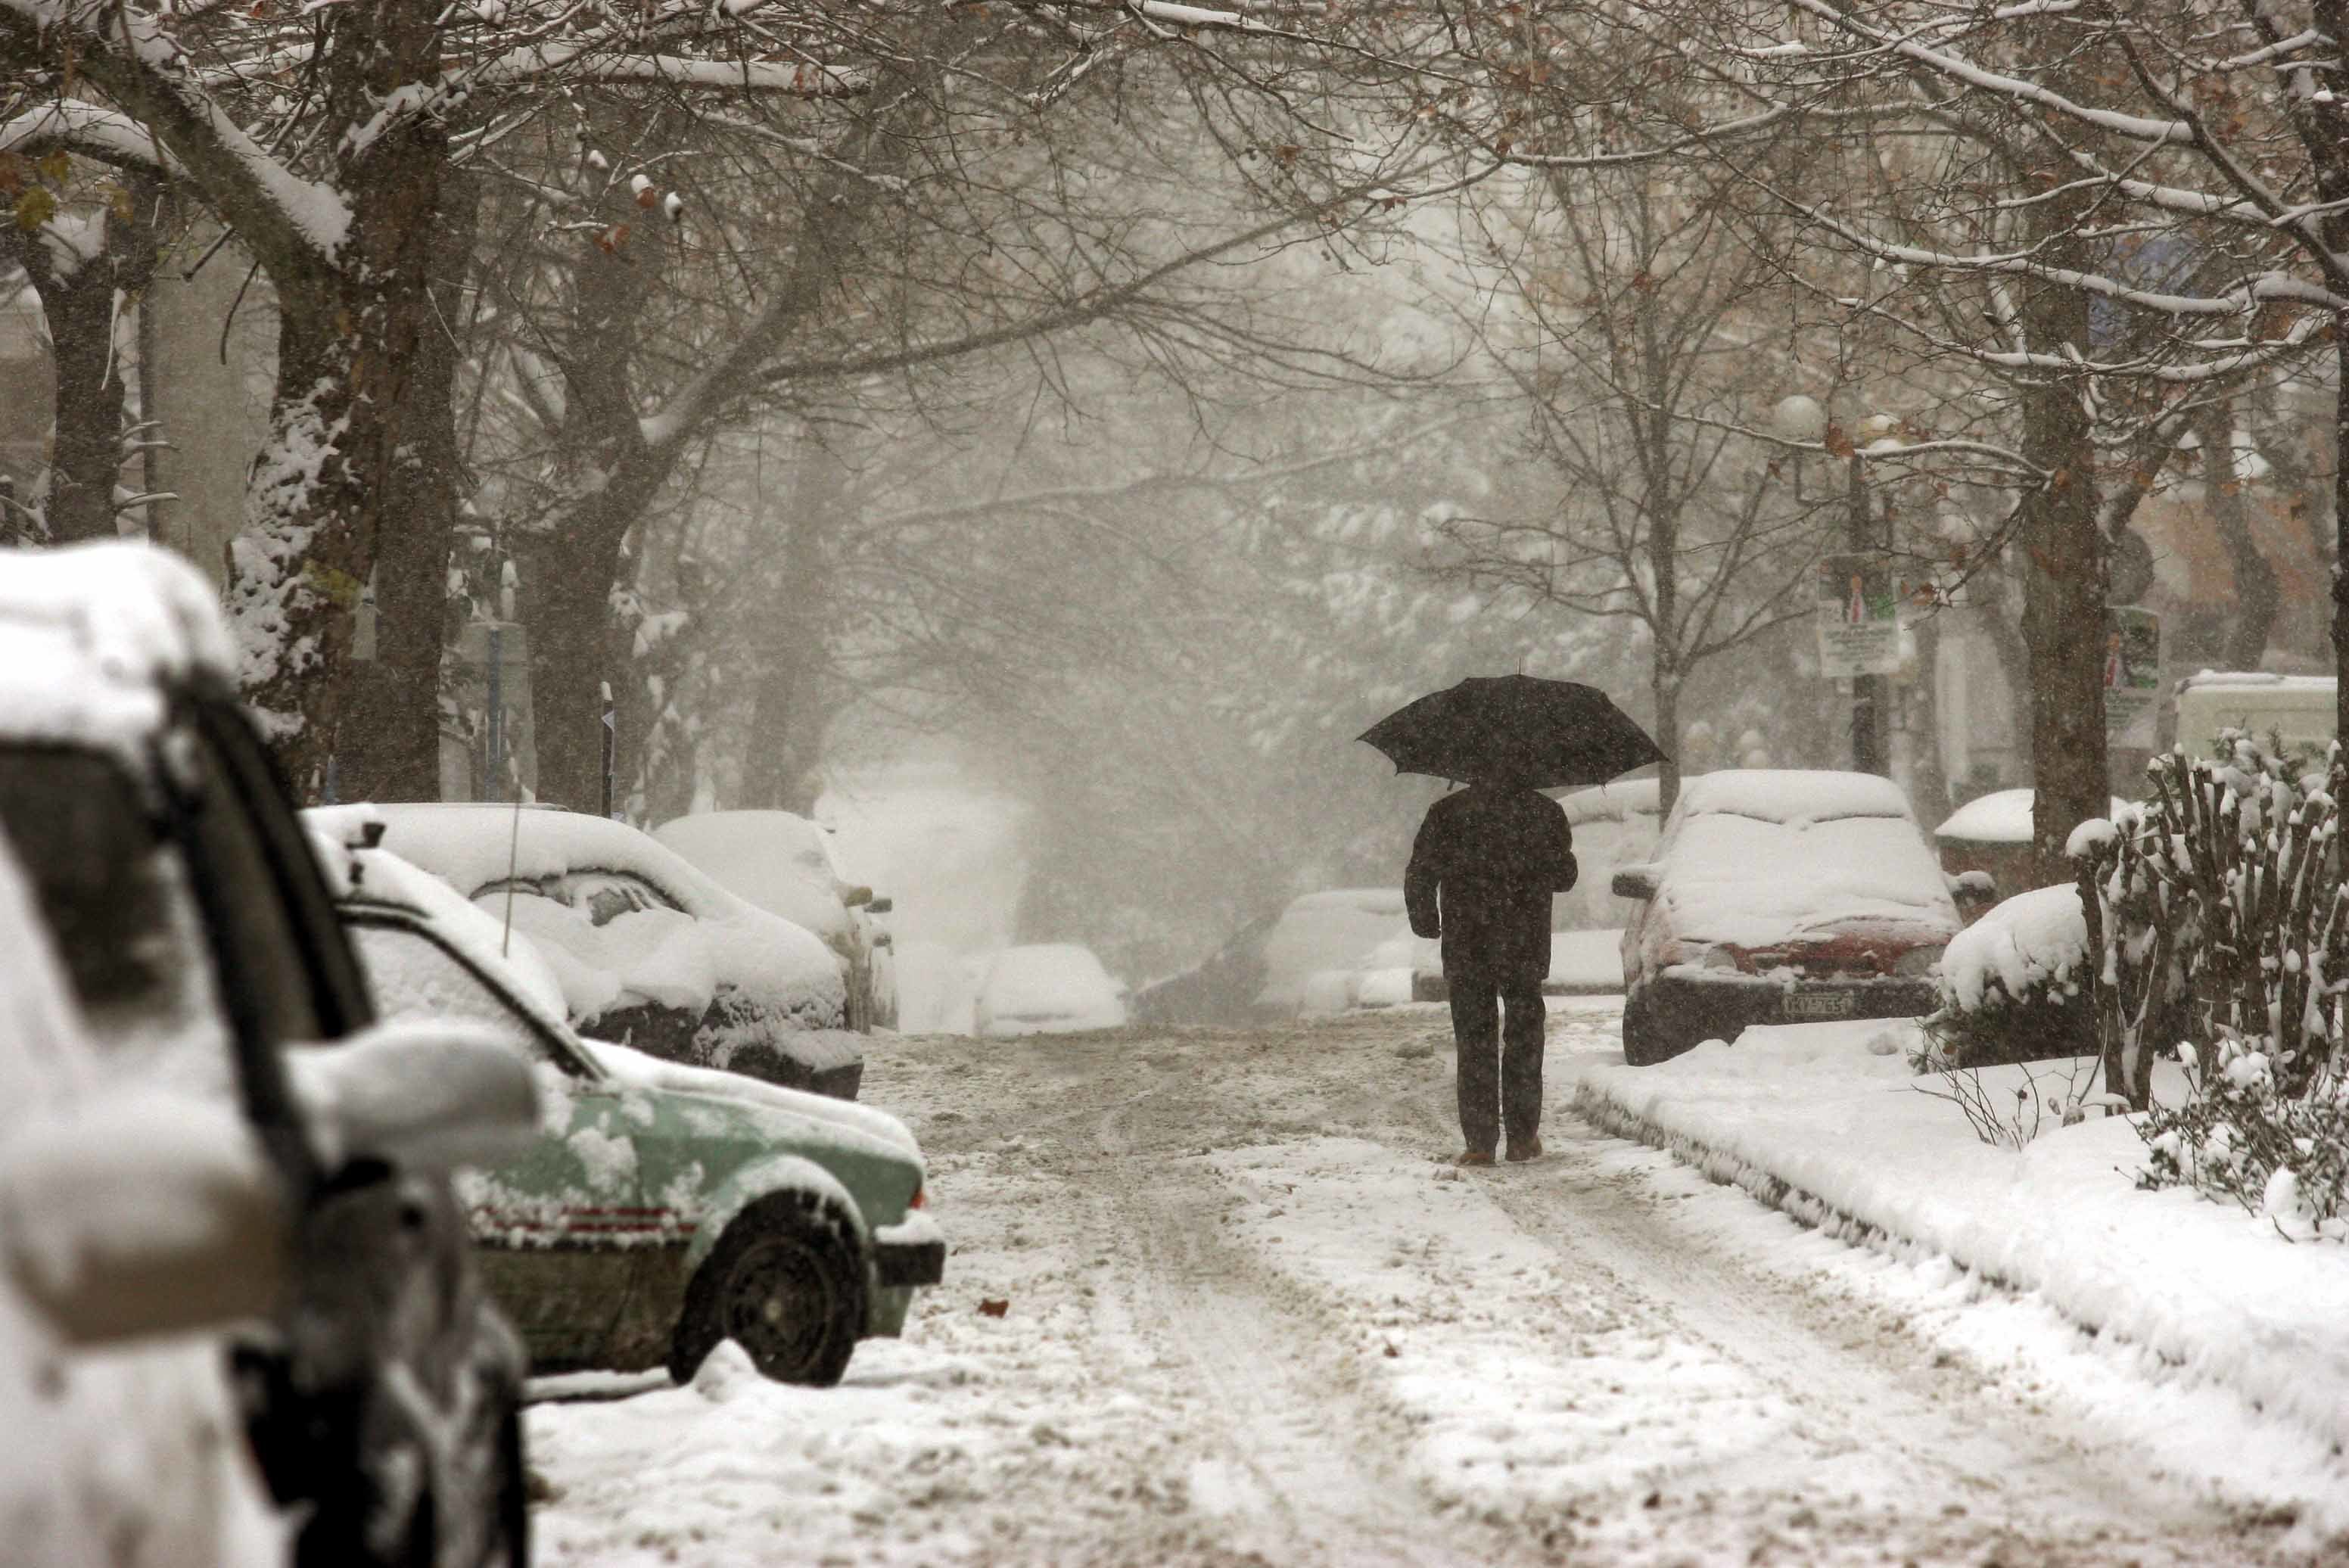
[[[1929,1068],[2081,1056],[2093,1049],[2088,922],[2079,887],[2034,887],[1950,939],[1940,1007],[1924,1021]]]

